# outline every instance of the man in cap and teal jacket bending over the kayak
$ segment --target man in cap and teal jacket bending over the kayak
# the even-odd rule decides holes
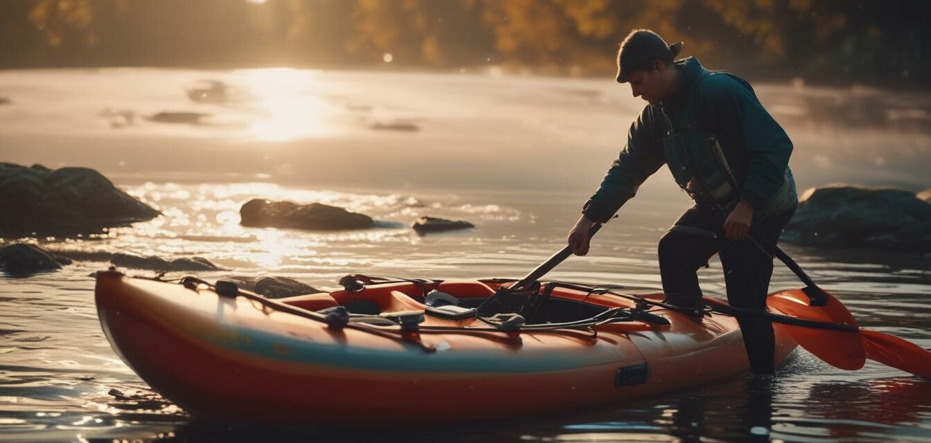
[[[664,164],[695,199],[659,241],[667,302],[701,307],[695,275],[719,254],[727,299],[765,310],[773,258],[747,240],[776,244],[798,198],[789,170],[792,143],[745,80],[711,73],[694,57],[676,60],[681,43],[636,30],[617,56],[617,82],[649,104],[630,126],[627,145],[583,208],[569,234],[577,255],[588,252],[588,230],[608,221],[638,186]],[[738,318],[754,373],[774,366],[773,326]]]

